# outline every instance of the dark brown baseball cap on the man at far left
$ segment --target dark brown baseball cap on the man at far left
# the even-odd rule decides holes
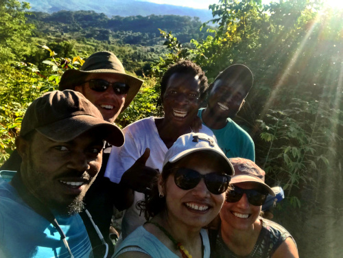
[[[27,108],[19,135],[37,130],[53,141],[67,142],[80,134],[100,128],[103,139],[121,146],[123,132],[115,124],[104,121],[100,111],[76,91],[52,91],[38,97]]]

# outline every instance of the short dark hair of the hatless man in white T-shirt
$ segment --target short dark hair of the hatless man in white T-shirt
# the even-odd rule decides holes
[[[193,76],[198,75],[198,78],[200,80],[200,102],[204,99],[206,96],[206,91],[209,89],[209,84],[207,82],[207,77],[202,71],[202,69],[196,65],[196,63],[190,61],[190,60],[181,60],[176,62],[176,64],[171,65],[165,72],[165,74],[162,77],[161,80],[161,100],[163,102],[163,95],[165,94],[165,89],[167,89],[167,84],[169,81],[169,78],[171,78],[171,75],[174,73],[183,73],[183,74],[190,74]]]

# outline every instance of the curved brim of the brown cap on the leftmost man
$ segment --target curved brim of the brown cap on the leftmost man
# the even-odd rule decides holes
[[[102,130],[101,135],[108,143],[117,147],[123,145],[124,135],[119,127],[91,115],[68,117],[47,126],[38,127],[36,130],[53,141],[67,142],[94,128]]]

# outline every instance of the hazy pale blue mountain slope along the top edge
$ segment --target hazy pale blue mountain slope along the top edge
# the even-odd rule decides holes
[[[156,15],[181,15],[197,16],[205,22],[212,19],[210,10],[193,9],[176,5],[157,4],[136,0],[25,0],[29,2],[34,12],[58,12],[60,10],[93,10],[103,12],[107,16],[147,16]]]

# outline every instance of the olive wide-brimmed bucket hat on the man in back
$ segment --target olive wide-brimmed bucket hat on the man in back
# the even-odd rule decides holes
[[[137,95],[143,84],[143,80],[126,74],[123,65],[115,54],[110,51],[99,51],[89,56],[80,70],[70,69],[65,71],[58,89],[60,91],[67,89],[74,90],[75,86],[83,84],[86,76],[90,73],[114,73],[123,76],[130,89],[126,95],[125,104],[121,109],[121,113],[130,105],[132,99]]]

